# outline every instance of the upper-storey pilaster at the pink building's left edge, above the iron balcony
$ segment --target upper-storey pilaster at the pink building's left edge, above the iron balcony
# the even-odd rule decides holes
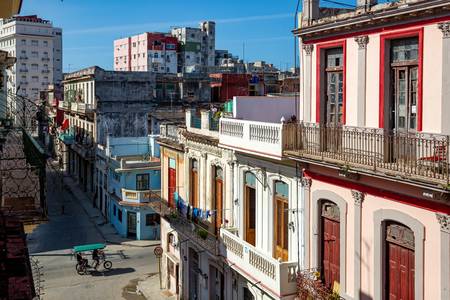
[[[314,50],[314,45],[312,44],[304,44],[302,46],[303,51],[305,52],[304,57],[304,70],[305,73],[300,77],[300,80],[303,80],[303,119],[302,121],[311,122],[311,104],[312,104],[312,53]],[[316,62],[318,63],[318,62]],[[303,78],[303,79],[302,79]],[[317,109],[317,108],[316,108]]]

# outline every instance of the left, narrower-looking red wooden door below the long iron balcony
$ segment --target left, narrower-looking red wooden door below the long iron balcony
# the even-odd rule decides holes
[[[333,288],[334,282],[339,282],[340,275],[340,223],[336,220],[322,217],[322,228],[322,280],[328,288]]]

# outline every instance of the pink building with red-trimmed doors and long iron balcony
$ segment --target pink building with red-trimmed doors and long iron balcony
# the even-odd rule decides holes
[[[294,31],[300,124],[284,128],[303,169],[301,276],[345,299],[449,299],[450,2],[318,2]]]

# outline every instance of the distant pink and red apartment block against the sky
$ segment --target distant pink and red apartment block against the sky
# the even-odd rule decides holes
[[[178,40],[164,33],[142,33],[114,41],[115,71],[177,73]]]

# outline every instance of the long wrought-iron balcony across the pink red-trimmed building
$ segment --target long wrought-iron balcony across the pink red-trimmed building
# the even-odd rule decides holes
[[[379,128],[284,124],[284,154],[413,180],[449,185],[450,137]]]

